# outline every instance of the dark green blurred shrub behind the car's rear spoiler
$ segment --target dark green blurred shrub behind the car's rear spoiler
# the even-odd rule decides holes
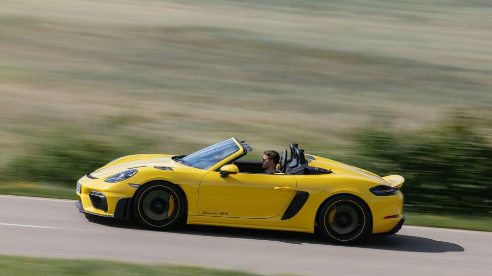
[[[492,210],[492,147],[478,131],[481,126],[480,118],[461,112],[418,131],[374,123],[352,137],[362,167],[405,177],[405,203],[415,205],[409,210],[487,215]]]

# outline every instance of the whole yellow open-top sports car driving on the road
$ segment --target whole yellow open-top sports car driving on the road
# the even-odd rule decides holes
[[[277,173],[243,157],[251,147],[227,139],[190,155],[117,158],[77,181],[83,213],[136,219],[151,229],[178,223],[319,232],[351,243],[395,234],[405,217],[403,177],[304,153],[290,144]]]

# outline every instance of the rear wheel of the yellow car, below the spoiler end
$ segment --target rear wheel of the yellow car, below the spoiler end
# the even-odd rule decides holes
[[[341,195],[326,201],[319,212],[318,228],[333,243],[350,244],[367,235],[370,212],[362,200]]]

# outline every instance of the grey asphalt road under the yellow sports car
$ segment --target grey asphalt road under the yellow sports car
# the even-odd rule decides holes
[[[311,234],[188,225],[149,231],[73,200],[0,195],[0,254],[172,263],[265,274],[490,275],[492,233],[403,226],[352,246]]]

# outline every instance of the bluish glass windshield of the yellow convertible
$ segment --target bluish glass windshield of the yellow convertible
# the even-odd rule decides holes
[[[180,160],[190,167],[206,170],[238,150],[239,147],[236,143],[232,139],[228,139],[187,155]]]

